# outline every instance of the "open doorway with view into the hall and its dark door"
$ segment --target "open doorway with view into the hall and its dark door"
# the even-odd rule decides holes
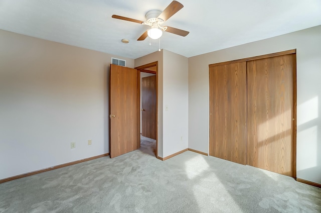
[[[137,78],[140,107],[139,115],[139,145],[140,143],[155,143],[153,153],[157,157],[157,62],[152,62],[139,67]],[[143,145],[143,144],[142,144]],[[142,147],[143,148],[143,147]]]

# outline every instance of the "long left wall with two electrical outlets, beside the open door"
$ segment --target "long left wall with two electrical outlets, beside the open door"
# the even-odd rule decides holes
[[[0,179],[109,152],[111,57],[0,30]]]

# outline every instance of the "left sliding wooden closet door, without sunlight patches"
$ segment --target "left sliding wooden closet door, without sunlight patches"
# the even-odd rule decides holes
[[[246,62],[210,67],[209,154],[246,164]]]

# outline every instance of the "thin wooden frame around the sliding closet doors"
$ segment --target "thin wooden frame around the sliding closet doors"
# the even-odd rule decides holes
[[[270,58],[274,56],[282,56],[282,55],[288,55],[288,54],[294,54],[294,63],[295,63],[295,69],[293,70],[293,132],[292,132],[292,166],[293,166],[293,174],[292,177],[296,179],[296,108],[297,108],[297,86],[296,86],[296,49],[292,50],[286,50],[282,52],[276,52],[276,53],[271,53],[271,54],[266,54],[266,55],[260,55],[260,56],[254,56],[254,57],[249,57],[249,58],[243,58],[243,59],[238,59],[238,60],[233,60],[233,61],[226,61],[226,62],[220,62],[220,63],[215,63],[215,64],[210,64],[210,67],[215,67],[215,66],[220,66],[220,65],[226,65],[226,64],[231,64],[231,63],[239,63],[239,62],[247,62],[247,61],[252,61],[252,60],[258,60],[258,59],[264,59],[264,58]],[[210,101],[211,102],[211,101]],[[211,109],[211,106],[210,106]],[[209,116],[211,116],[212,112],[209,112]],[[211,127],[209,127],[211,128]],[[209,130],[210,131],[210,130]],[[209,141],[210,143],[210,141]],[[247,142],[246,142],[247,143]],[[209,153],[210,154],[210,153]],[[248,164],[248,162],[246,162]]]

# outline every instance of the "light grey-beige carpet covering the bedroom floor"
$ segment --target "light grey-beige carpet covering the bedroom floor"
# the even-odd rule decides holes
[[[0,184],[0,212],[321,212],[321,190],[293,178],[155,143]]]

